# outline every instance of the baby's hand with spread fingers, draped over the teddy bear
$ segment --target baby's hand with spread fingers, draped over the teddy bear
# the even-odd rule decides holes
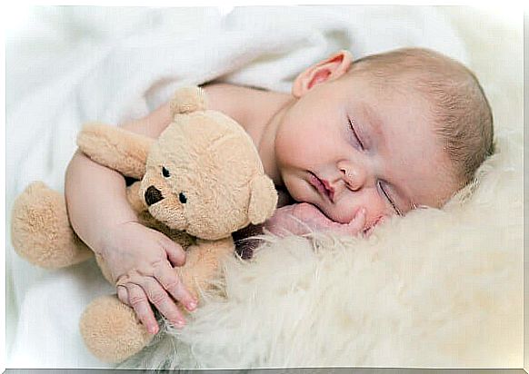
[[[161,232],[131,221],[109,230],[100,247],[98,252],[115,281],[119,300],[135,310],[149,332],[158,331],[149,301],[175,326],[184,326],[175,300],[190,311],[195,310],[197,301],[173,269],[185,263],[180,245]]]

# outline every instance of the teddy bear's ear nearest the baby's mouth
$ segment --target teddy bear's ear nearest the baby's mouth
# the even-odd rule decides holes
[[[252,224],[263,223],[272,217],[277,205],[277,192],[274,182],[266,175],[260,175],[254,178],[251,183],[248,219]]]

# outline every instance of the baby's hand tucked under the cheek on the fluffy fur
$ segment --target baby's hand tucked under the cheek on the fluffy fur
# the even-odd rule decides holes
[[[349,223],[339,223],[327,218],[314,205],[307,202],[286,205],[277,209],[265,228],[276,235],[285,233],[303,235],[311,231],[334,231],[345,235],[364,233],[365,209],[360,209]]]

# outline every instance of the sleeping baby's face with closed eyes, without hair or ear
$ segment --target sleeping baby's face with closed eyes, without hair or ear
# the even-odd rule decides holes
[[[278,125],[275,159],[295,201],[338,222],[364,207],[365,229],[440,206],[456,189],[428,102],[364,75],[316,84],[296,101]]]

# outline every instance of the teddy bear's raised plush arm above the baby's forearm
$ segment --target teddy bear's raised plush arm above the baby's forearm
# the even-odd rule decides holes
[[[145,162],[155,139],[102,123],[85,124],[77,145],[93,161],[125,176],[142,179]]]

